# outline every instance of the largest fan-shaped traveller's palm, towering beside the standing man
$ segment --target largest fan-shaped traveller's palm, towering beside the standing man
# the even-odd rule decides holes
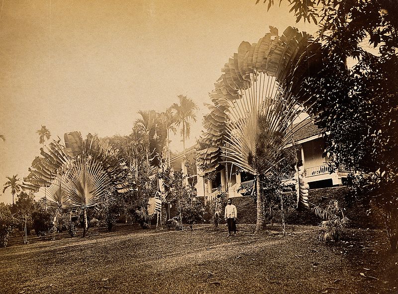
[[[273,27],[258,43],[242,42],[222,69],[210,93],[213,104],[205,117],[207,133],[199,151],[203,165],[227,161],[257,176],[256,231],[264,224],[260,175],[278,165],[278,153],[292,143],[294,121],[305,110],[288,80],[305,56],[310,37],[288,27],[279,37]]]

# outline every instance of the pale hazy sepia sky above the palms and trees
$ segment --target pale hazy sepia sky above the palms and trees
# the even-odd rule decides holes
[[[309,33],[286,6],[256,0],[0,0],[0,202],[5,176],[22,180],[39,155],[36,130],[52,139],[80,131],[128,135],[138,110],[164,111],[177,95],[200,107],[241,41],[269,26]],[[262,2],[262,1],[261,1]],[[279,1],[276,1],[279,2]],[[182,151],[181,138],[171,138]]]

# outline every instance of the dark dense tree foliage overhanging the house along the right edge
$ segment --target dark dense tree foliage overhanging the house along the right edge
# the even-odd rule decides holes
[[[328,131],[325,154],[361,172],[358,195],[383,207],[397,250],[398,2],[288,1],[297,21],[318,23],[320,42],[295,69],[292,88]]]

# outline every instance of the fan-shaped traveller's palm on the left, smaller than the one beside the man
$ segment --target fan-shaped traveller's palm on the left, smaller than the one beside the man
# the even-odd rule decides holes
[[[37,192],[40,187],[49,187],[53,192],[50,204],[60,209],[67,204],[84,211],[101,203],[109,183],[118,193],[132,190],[127,179],[128,167],[109,144],[100,144],[91,134],[83,140],[80,132],[66,133],[64,140],[65,146],[54,141],[47,152],[41,150],[42,157],[33,160],[30,173],[24,178],[24,188]],[[69,199],[67,203],[64,193]],[[84,234],[86,229],[87,221]]]

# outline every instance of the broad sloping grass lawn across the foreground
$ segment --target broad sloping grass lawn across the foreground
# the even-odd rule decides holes
[[[398,255],[382,230],[348,229],[315,240],[317,227],[254,225],[214,231],[118,225],[86,238],[62,236],[0,248],[0,293],[398,293]]]

